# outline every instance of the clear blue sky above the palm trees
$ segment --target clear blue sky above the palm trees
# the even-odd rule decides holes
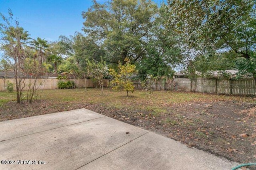
[[[160,3],[161,0],[154,1]],[[14,18],[18,18],[20,26],[30,33],[31,38],[57,41],[60,35],[81,32],[84,21],[82,11],[91,5],[91,0],[0,0],[0,12],[8,16],[10,8]]]

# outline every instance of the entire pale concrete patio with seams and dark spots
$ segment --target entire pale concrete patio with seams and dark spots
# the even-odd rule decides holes
[[[231,169],[224,158],[78,109],[0,123],[0,169]],[[17,164],[20,163],[20,164]]]

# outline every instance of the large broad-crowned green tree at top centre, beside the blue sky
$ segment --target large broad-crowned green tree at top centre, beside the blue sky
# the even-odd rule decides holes
[[[145,56],[156,9],[150,0],[111,0],[104,4],[94,0],[87,12],[82,12],[83,31],[106,50],[108,63],[124,64],[126,58],[135,62]]]

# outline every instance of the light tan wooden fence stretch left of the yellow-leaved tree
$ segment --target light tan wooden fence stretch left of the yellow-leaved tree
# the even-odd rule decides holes
[[[75,82],[77,88],[84,88],[85,82],[83,79],[68,79]],[[62,81],[68,81],[68,80],[62,80]],[[35,81],[33,78],[27,78],[24,80],[25,87],[24,90],[29,89],[29,85],[32,84]],[[37,79],[36,80],[36,88],[40,90],[46,90],[46,89],[57,89],[57,82],[60,81],[55,78],[47,78],[47,79]],[[14,83],[14,90],[15,90],[15,79],[14,78],[0,78],[0,91],[5,91],[6,86],[8,82]],[[108,87],[109,80],[104,80],[104,87]],[[97,82],[93,82],[92,80],[87,80],[87,87],[96,87],[98,86]]]

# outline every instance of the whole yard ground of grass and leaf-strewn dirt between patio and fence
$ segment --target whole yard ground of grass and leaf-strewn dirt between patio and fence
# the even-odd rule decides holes
[[[0,121],[86,108],[240,163],[256,162],[255,97],[105,88],[44,90],[41,102],[16,104],[0,92]]]

